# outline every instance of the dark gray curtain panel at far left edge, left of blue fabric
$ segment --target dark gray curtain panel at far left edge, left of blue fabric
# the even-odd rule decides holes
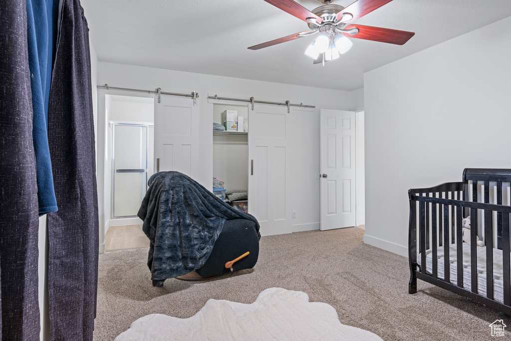
[[[38,204],[26,0],[0,2],[2,340],[39,339]]]

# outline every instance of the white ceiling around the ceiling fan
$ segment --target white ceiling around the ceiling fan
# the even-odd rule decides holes
[[[296,2],[309,10],[321,5]],[[100,61],[349,91],[363,87],[364,72],[511,15],[511,0],[393,0],[356,23],[415,36],[403,46],[352,39],[349,52],[322,66],[304,54],[315,36],[247,49],[308,30],[264,0],[82,0],[82,6]]]

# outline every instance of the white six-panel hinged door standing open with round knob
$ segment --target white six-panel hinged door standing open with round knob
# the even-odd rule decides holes
[[[355,112],[321,109],[320,230],[356,224]]]

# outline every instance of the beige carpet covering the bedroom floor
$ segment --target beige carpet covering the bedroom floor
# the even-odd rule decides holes
[[[422,281],[408,294],[407,258],[364,244],[363,233],[348,228],[263,237],[253,269],[205,282],[170,279],[161,288],[152,286],[147,248],[100,255],[94,339],[113,340],[148,314],[191,317],[209,299],[250,304],[271,287],[303,291],[311,302],[334,307],[342,324],[387,341],[492,339],[491,323],[503,319],[511,326],[509,317]]]

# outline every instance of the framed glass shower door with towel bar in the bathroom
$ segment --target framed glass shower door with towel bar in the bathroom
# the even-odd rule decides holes
[[[112,125],[112,218],[136,217],[147,191],[147,125]]]

